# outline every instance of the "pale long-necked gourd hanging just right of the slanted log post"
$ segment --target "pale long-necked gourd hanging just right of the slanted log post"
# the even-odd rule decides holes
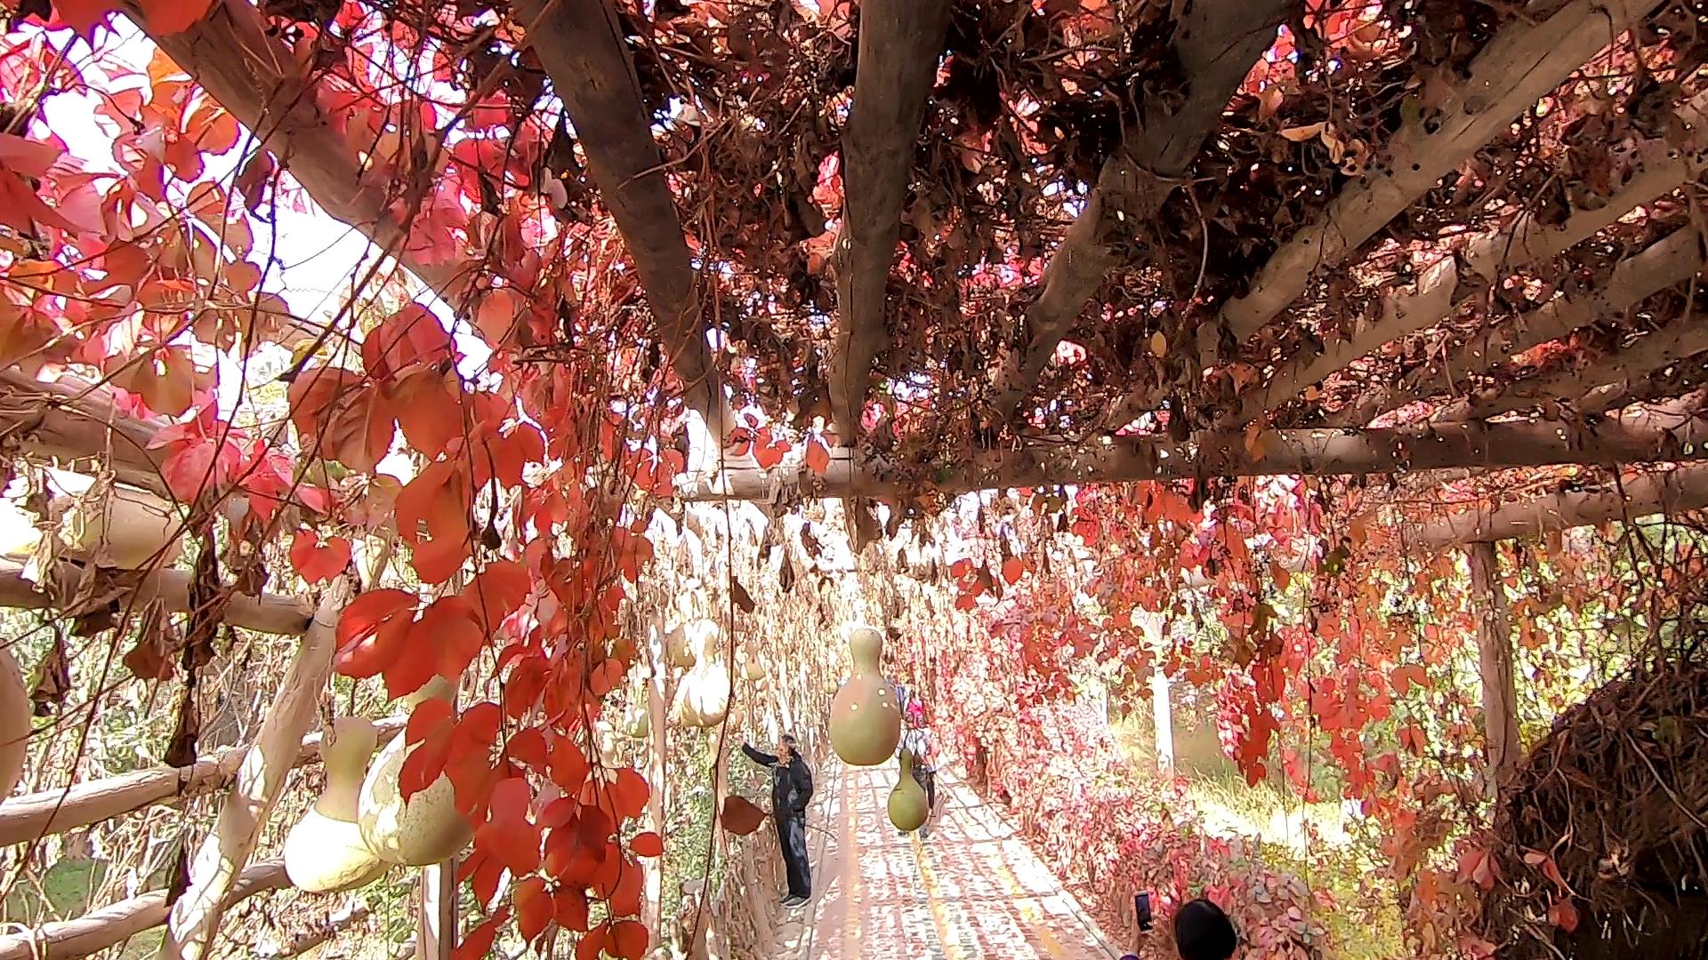
[[[367,849],[357,823],[362,767],[376,743],[379,731],[366,717],[338,717],[331,738],[321,741],[326,789],[285,835],[285,875],[297,888],[309,893],[355,890],[379,880],[391,866]]]

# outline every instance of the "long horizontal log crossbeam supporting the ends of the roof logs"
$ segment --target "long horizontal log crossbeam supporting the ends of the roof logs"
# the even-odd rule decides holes
[[[1030,441],[967,461],[945,461],[904,478],[876,463],[856,465],[847,448],[823,475],[796,470],[784,485],[823,497],[907,497],[1056,483],[1126,483],[1204,477],[1370,475],[1447,468],[1549,466],[1708,460],[1708,415],[1694,405],[1647,408],[1578,422],[1426,424],[1387,430],[1204,432],[1187,441],[1108,437],[1081,446]],[[763,500],[765,470],[728,470],[724,478],[678,483],[688,500]]]

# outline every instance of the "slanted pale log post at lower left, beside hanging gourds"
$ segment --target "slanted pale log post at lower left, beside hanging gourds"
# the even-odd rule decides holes
[[[314,723],[314,704],[331,676],[335,630],[348,598],[350,584],[345,577],[333,579],[326,588],[314,612],[314,623],[302,634],[302,646],[261,721],[261,731],[237,769],[237,781],[220,806],[214,832],[196,851],[190,866],[190,888],[173,904],[162,957],[200,960],[214,946],[232,885],[254,852],[261,827],[278,803],[285,776],[295,765],[302,736]]]

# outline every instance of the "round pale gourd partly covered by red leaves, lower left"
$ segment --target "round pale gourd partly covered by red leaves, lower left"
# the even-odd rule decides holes
[[[427,697],[449,699],[453,690],[449,682],[436,676],[418,694],[403,700],[413,709]],[[451,777],[444,774],[439,774],[427,789],[410,796],[408,803],[403,801],[398,774],[403,772],[403,760],[415,750],[407,740],[398,736],[374,757],[374,765],[362,779],[357,823],[362,827],[362,840],[379,859],[403,866],[430,866],[451,859],[466,847],[475,839],[475,828],[456,810]]]

